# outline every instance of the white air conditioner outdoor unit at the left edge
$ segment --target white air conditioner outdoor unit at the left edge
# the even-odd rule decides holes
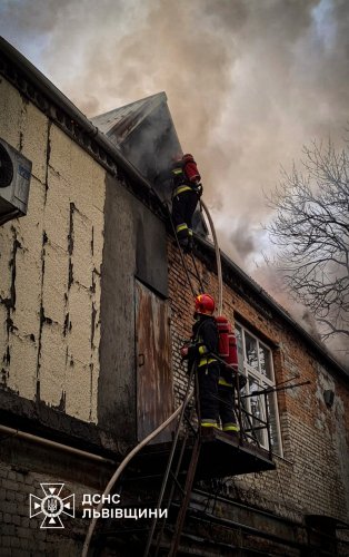
[[[27,214],[31,162],[0,139],[0,225]]]

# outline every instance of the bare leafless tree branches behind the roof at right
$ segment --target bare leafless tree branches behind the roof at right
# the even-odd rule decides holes
[[[313,141],[303,155],[302,170],[283,169],[267,196],[276,212],[267,226],[275,264],[292,297],[313,313],[322,339],[348,345],[349,150]]]

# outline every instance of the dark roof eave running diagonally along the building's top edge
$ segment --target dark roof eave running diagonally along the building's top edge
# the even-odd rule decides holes
[[[0,75],[3,75],[73,141],[98,160],[107,172],[118,176],[124,186],[129,187],[133,195],[141,198],[159,217],[166,217],[161,198],[149,180],[41,71],[2,37],[0,37]],[[215,261],[213,245],[203,238],[200,238],[199,244],[201,257],[208,258],[209,265],[212,266]],[[236,276],[246,290],[259,297],[271,313],[290,325],[312,348],[323,365],[328,365],[348,381],[348,370],[337,362],[281,305],[226,254],[222,254],[222,264],[228,275]]]

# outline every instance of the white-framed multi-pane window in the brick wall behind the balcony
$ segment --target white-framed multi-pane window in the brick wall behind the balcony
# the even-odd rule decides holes
[[[276,392],[263,394],[265,389],[275,387],[271,350],[257,336],[240,324],[236,324],[238,343],[239,371],[246,377],[247,383],[241,389],[241,404],[243,429],[249,439],[258,442],[269,450],[268,430],[269,422],[270,443],[272,452],[282,456],[279,412]],[[253,393],[256,393],[253,395]],[[268,420],[267,420],[268,418]]]

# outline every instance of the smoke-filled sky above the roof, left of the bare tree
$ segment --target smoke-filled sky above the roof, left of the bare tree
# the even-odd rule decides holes
[[[0,0],[0,33],[87,117],[166,91],[221,248],[277,290],[265,193],[345,137],[348,0]]]

